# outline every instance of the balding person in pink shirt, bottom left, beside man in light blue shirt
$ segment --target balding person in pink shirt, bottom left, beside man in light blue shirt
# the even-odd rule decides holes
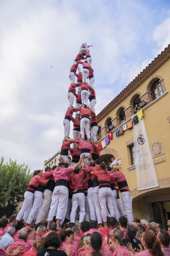
[[[28,231],[27,230],[22,230],[19,234],[18,240],[11,245],[11,250],[16,249],[19,245],[21,245],[23,247],[23,250],[21,253],[18,254],[18,256],[23,256],[25,254],[26,251],[29,251],[31,248],[30,244],[27,244],[25,241],[27,240],[28,237]],[[7,248],[10,246],[8,245],[7,247],[5,247],[5,251],[7,251]]]

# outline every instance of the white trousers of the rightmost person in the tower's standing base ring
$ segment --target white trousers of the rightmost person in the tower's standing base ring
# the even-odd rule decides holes
[[[131,193],[129,191],[125,191],[121,193],[121,198],[122,198],[122,204],[123,204],[123,209],[124,209],[124,215],[128,220],[128,223],[130,224],[133,219],[132,219],[132,213],[131,213]]]

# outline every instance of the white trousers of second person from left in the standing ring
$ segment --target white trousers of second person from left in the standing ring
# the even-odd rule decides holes
[[[41,202],[42,195],[43,195],[43,193],[40,191],[34,192],[34,202],[33,202],[32,209],[31,209],[30,214],[27,219],[27,223],[29,225],[32,223],[32,220],[34,219],[34,215],[39,210],[39,204]]]

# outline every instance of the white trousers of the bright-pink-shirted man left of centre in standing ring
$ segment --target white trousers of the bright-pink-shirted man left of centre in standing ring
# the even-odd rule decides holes
[[[65,186],[56,186],[52,195],[52,202],[50,211],[48,214],[48,221],[52,221],[53,217],[56,214],[56,218],[58,220],[62,220],[66,216],[66,212],[64,209],[67,209],[69,199],[69,190]],[[65,216],[64,216],[65,215]]]

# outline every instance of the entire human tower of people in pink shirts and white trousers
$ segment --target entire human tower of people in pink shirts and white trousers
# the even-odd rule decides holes
[[[67,95],[69,106],[63,121],[64,139],[60,162],[52,170],[46,167],[44,173],[41,170],[34,171],[25,191],[23,206],[16,220],[24,218],[27,225],[33,226],[43,219],[50,223],[55,216],[57,229],[60,230],[65,218],[75,222],[78,206],[79,228],[84,219],[96,220],[99,228],[107,226],[107,216],[117,220],[120,216],[126,216],[129,223],[133,221],[130,190],[124,174],[117,165],[113,165],[111,173],[111,167],[106,168],[99,160],[100,151],[96,139],[98,125],[94,108],[96,95],[90,47],[92,45],[87,46],[87,43],[81,45],[70,69],[71,85]],[[82,65],[82,71],[79,65]],[[73,139],[69,138],[70,121],[74,124]],[[70,147],[72,143],[73,148]],[[70,168],[69,151],[72,156]],[[124,210],[119,199],[119,190]]]

